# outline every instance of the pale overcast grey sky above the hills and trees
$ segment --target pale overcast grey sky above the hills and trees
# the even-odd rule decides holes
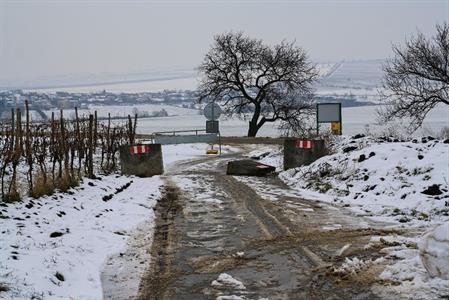
[[[0,81],[196,67],[214,34],[293,40],[315,61],[375,59],[449,20],[449,0],[0,0]]]

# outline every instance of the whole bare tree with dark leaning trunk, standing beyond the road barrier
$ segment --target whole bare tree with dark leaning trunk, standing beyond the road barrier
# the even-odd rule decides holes
[[[214,37],[199,66],[199,99],[220,102],[228,116],[251,113],[248,136],[256,136],[267,122],[300,125],[302,101],[311,98],[317,77],[307,53],[294,43],[263,44],[239,33]],[[294,101],[292,97],[302,95]]]

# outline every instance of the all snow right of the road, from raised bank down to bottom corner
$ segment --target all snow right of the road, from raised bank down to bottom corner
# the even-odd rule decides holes
[[[366,264],[380,268],[379,278],[389,283],[388,288],[381,284],[373,290],[387,299],[392,293],[396,299],[447,296],[449,140],[355,136],[337,140],[333,148],[335,154],[281,172],[280,178],[304,197],[349,208],[380,221],[384,228],[403,232],[371,238],[366,248],[383,248],[383,257],[355,257],[340,269],[355,274]],[[434,229],[439,224],[443,225]],[[426,234],[421,237],[422,233]]]

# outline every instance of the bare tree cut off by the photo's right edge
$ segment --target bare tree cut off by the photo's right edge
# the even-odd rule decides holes
[[[394,57],[384,66],[379,111],[382,121],[410,118],[410,131],[418,129],[437,104],[449,105],[449,25],[436,26],[427,39],[422,33],[393,46]]]

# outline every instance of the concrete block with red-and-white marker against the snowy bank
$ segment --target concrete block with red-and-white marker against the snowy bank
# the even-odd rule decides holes
[[[284,170],[309,165],[326,155],[324,140],[284,140]]]

